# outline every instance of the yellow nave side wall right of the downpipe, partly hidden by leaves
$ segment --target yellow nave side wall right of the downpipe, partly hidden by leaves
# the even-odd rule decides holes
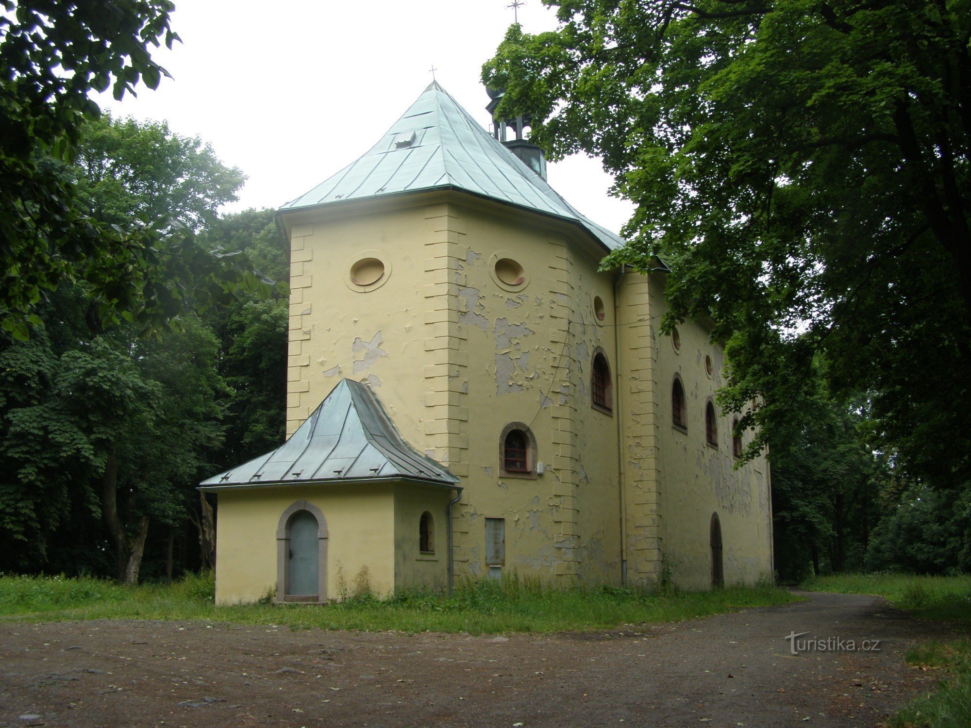
[[[636,276],[636,278],[635,278]],[[759,457],[736,469],[732,454],[730,416],[718,415],[718,447],[705,437],[705,410],[715,402],[717,390],[725,383],[721,347],[708,341],[708,329],[698,322],[686,321],[678,327],[681,347],[676,349],[670,336],[658,334],[665,311],[664,278],[627,274],[622,282],[630,306],[642,307],[651,325],[641,329],[628,342],[634,362],[650,362],[649,368],[628,366],[632,407],[643,410],[632,414],[629,441],[640,455],[640,468],[631,479],[633,498],[628,499],[635,534],[634,552],[649,554],[635,564],[636,573],[648,580],[657,574],[661,560],[674,582],[685,588],[711,585],[712,562],[710,523],[718,513],[721,524],[725,584],[752,583],[769,578],[771,565],[771,507],[768,465]],[[709,376],[705,357],[710,356],[713,372]],[[634,373],[638,374],[634,374]],[[649,374],[650,373],[650,374]],[[686,431],[674,426],[671,412],[671,387],[675,373],[685,387]],[[748,443],[751,435],[743,439]],[[650,474],[646,477],[645,473]],[[640,478],[640,481],[633,480]],[[653,483],[653,484],[652,484]],[[637,546],[641,546],[638,548]]]

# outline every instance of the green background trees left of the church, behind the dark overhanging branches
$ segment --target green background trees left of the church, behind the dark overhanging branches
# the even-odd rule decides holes
[[[186,230],[208,226],[192,237],[201,253],[220,244],[240,259],[251,251],[286,277],[272,212],[218,217],[243,178],[199,140],[104,118],[85,127],[78,149],[76,165],[46,168],[75,181],[75,203],[92,218],[145,227],[164,215]],[[179,288],[204,317],[182,310],[146,337],[144,322],[106,314],[96,285],[62,282],[35,306],[44,327],[29,341],[0,335],[0,570],[120,578],[130,567],[133,579],[143,539],[154,577],[195,568],[195,485],[283,440],[285,284],[272,299],[261,284],[223,299],[164,275],[162,288]],[[214,297],[227,305],[208,307]]]

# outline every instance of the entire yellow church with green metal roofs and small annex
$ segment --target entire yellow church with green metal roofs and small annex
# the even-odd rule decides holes
[[[431,83],[280,209],[287,440],[200,486],[218,603],[771,577],[768,463],[735,467],[710,322],[659,333],[660,261],[599,270],[623,241],[552,189],[527,124],[490,133]]]

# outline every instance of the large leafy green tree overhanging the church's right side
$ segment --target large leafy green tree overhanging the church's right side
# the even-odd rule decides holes
[[[713,315],[748,454],[823,353],[901,467],[971,480],[968,0],[547,4],[558,29],[512,26],[485,83],[636,203],[605,266],[665,255],[663,328]]]

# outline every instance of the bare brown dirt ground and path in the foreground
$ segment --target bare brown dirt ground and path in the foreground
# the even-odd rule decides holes
[[[877,725],[937,676],[903,651],[947,628],[876,597],[553,636],[272,625],[0,623],[0,725]],[[799,640],[880,651],[790,654]]]

